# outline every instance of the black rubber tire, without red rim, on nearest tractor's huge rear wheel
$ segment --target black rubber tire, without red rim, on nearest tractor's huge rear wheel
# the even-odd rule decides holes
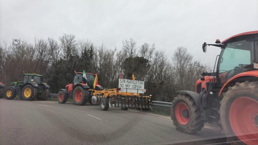
[[[229,109],[234,100],[239,97],[250,97],[258,101],[258,87],[257,82],[243,82],[236,83],[235,86],[229,87],[229,90],[223,94],[223,99],[221,100],[220,105],[220,122],[222,126],[222,132],[226,135],[228,142],[232,144],[241,144],[244,145],[234,134],[231,129],[229,122]]]

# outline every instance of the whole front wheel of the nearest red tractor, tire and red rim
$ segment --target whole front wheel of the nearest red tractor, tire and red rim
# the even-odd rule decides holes
[[[180,113],[176,113],[176,111],[180,110],[180,105],[187,106],[188,111],[185,109],[182,112],[179,111]],[[185,120],[187,121],[177,120],[176,117],[185,117]],[[173,120],[176,129],[184,133],[196,133],[204,126],[204,122],[201,120],[200,108],[189,95],[179,94],[174,98],[171,107],[171,119]]]

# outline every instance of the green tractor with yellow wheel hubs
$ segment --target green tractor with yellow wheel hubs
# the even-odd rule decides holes
[[[22,100],[47,100],[50,86],[43,82],[43,76],[39,74],[23,74],[23,81],[13,82],[7,88],[5,98],[12,100],[16,95]]]

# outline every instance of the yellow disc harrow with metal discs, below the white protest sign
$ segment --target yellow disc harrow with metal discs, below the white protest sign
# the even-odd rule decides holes
[[[152,108],[151,96],[142,96],[139,93],[119,92],[116,89],[90,91],[93,92],[91,102],[93,104],[100,104],[101,109],[104,108],[105,105],[108,105],[108,107],[120,107],[122,110],[127,110],[128,108]],[[107,109],[104,108],[102,110]]]

